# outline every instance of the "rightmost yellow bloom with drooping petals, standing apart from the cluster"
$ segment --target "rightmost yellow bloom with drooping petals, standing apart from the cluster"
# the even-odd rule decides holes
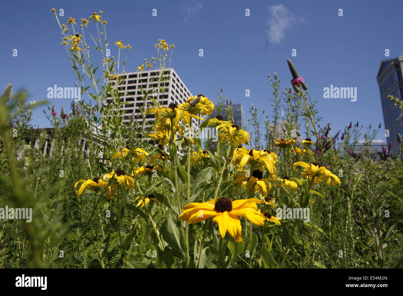
[[[330,184],[339,185],[340,187],[340,179],[335,174],[332,174],[329,170],[327,170],[320,162],[314,162],[313,164],[307,164],[303,161],[297,161],[293,164],[294,170],[296,170],[297,166],[302,166],[304,168],[303,172],[301,173],[302,178],[308,178],[310,182],[314,179],[315,183],[320,183],[326,180],[326,187],[329,187]],[[333,182],[331,181],[333,178]]]

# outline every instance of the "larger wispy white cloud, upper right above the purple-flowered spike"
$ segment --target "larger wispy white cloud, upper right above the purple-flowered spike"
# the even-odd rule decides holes
[[[271,43],[280,43],[285,38],[285,31],[292,28],[296,23],[304,21],[289,11],[283,4],[270,7],[270,19],[267,21],[269,29],[267,33]]]

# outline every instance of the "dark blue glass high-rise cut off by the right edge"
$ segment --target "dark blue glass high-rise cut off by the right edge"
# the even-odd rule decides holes
[[[388,143],[397,147],[397,133],[403,133],[403,116],[400,109],[388,99],[388,95],[403,98],[403,55],[395,59],[383,60],[380,63],[378,80],[380,97],[382,101],[385,129],[389,130]]]

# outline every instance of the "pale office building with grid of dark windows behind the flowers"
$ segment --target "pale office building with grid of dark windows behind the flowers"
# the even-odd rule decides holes
[[[120,77],[123,77],[123,81],[118,85],[120,100],[125,103],[122,105],[122,110],[125,111],[123,122],[129,122],[132,115],[134,115],[135,121],[143,121],[140,108],[145,104],[144,110],[146,110],[147,104],[153,103],[151,96],[156,99],[161,107],[168,107],[171,102],[179,105],[185,103],[188,97],[193,97],[173,68],[164,69],[161,76],[163,83],[158,85],[160,74],[159,70],[143,70],[119,74]],[[147,93],[148,95],[146,95]],[[144,100],[145,96],[147,96],[146,100]],[[111,99],[109,96],[106,101],[108,102]],[[147,125],[152,125],[154,120],[154,114],[148,114],[145,117]],[[198,125],[195,118],[192,119],[192,125]],[[157,145],[158,143],[152,142],[152,144]]]

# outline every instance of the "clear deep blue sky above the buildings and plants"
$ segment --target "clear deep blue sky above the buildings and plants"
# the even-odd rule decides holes
[[[123,40],[129,51],[126,71],[135,71],[143,59],[156,56],[154,43],[174,43],[171,66],[193,94],[203,93],[213,102],[224,86],[224,95],[242,103],[245,121],[251,103],[272,115],[272,88],[267,73],[277,72],[281,90],[290,86],[287,67],[291,58],[305,77],[317,109],[333,130],[350,121],[364,127],[382,122],[376,74],[385,49],[390,58],[403,53],[401,1],[19,1],[2,4],[0,87],[12,83],[25,88],[30,100],[46,99],[53,85],[73,86],[73,69],[60,45],[61,34],[50,8],[64,9],[69,17],[86,18],[102,10],[113,42]],[[152,17],[152,9],[157,17]],[[245,9],[250,16],[245,16]],[[338,16],[339,8],[343,17]],[[91,29],[94,25],[91,21]],[[199,56],[202,48],[204,56]],[[13,57],[13,49],[18,56]],[[291,56],[291,50],[297,56]],[[96,56],[92,56],[93,61]],[[100,57],[98,59],[101,60]],[[323,88],[357,87],[357,101],[324,99]],[[245,97],[245,89],[250,97]],[[69,99],[50,99],[56,111],[70,108]],[[42,108],[33,123],[50,126]],[[380,136],[378,135],[378,138]]]

